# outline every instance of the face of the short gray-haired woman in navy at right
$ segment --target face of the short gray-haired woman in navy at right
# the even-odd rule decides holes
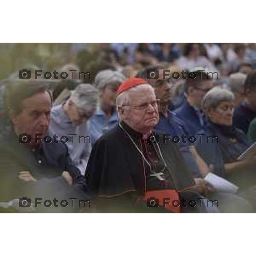
[[[220,102],[217,108],[206,112],[207,116],[212,122],[219,125],[232,125],[233,124],[233,111],[235,104],[233,101]]]

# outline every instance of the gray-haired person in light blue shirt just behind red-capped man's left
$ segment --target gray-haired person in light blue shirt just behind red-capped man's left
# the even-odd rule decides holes
[[[92,145],[118,122],[116,90],[123,81],[125,76],[113,70],[102,70],[95,77],[94,84],[99,90],[99,104],[95,115],[89,120]]]

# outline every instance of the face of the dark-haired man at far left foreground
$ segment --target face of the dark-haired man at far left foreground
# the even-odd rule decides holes
[[[46,91],[23,100],[21,113],[12,116],[12,123],[17,136],[22,133],[30,134],[30,145],[36,145],[35,134],[42,134],[43,137],[47,135],[51,107],[51,98]],[[38,140],[38,144],[40,143],[41,140]]]

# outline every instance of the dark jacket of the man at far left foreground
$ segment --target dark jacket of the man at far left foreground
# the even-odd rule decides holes
[[[53,142],[53,141],[52,141]],[[44,143],[36,149],[20,144],[13,131],[2,134],[0,140],[0,201],[27,195],[32,182],[20,180],[21,171],[30,172],[35,179],[57,178],[67,171],[75,182],[83,179],[63,143]]]

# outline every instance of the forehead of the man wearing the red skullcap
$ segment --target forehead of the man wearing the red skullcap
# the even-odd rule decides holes
[[[138,87],[135,91],[129,92],[129,104],[139,105],[141,103],[151,102],[156,99],[154,89],[151,86]]]

